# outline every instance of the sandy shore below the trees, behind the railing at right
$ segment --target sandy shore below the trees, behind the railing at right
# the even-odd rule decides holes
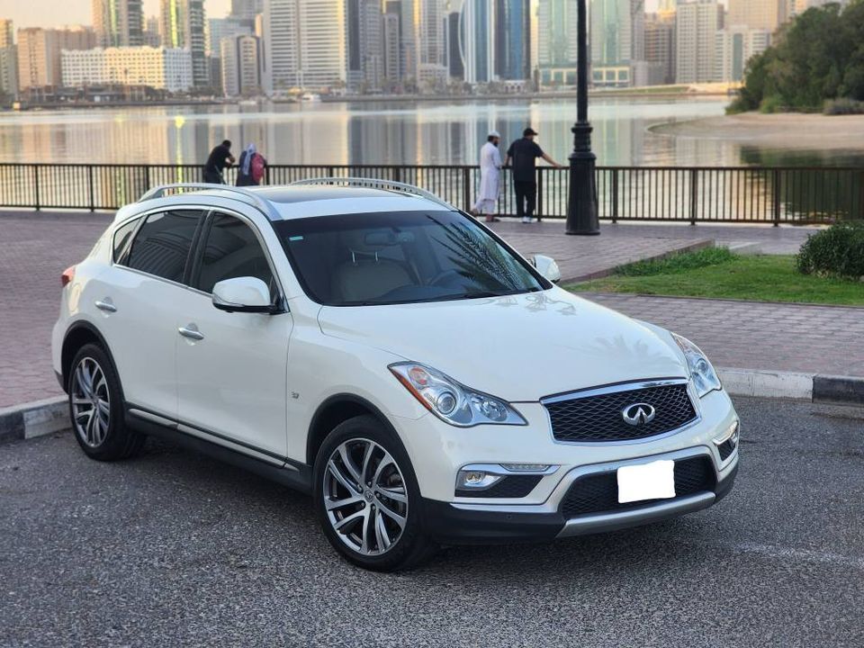
[[[864,115],[747,112],[660,124],[651,130],[676,138],[737,141],[763,148],[864,149]]]

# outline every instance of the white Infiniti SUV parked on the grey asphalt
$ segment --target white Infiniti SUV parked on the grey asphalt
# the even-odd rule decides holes
[[[311,492],[370,569],[720,500],[707,358],[559,276],[407,185],[161,187],[63,274],[53,363],[87,455],[166,437]]]

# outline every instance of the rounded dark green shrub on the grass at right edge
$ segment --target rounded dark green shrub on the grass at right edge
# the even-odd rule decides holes
[[[798,272],[864,277],[864,220],[840,222],[811,234],[796,257]]]

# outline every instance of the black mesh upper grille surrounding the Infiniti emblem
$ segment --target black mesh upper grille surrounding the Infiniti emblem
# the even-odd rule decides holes
[[[683,428],[698,419],[686,381],[616,385],[544,399],[558,441],[635,441]],[[622,412],[631,405],[654,409],[654,418],[630,425]]]

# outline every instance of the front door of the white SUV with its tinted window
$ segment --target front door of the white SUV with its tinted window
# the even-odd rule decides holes
[[[229,313],[212,305],[213,285],[224,279],[257,277],[274,299],[279,289],[254,224],[218,212],[209,219],[192,276],[197,292],[179,313],[178,419],[184,431],[275,461],[287,454],[291,314]]]

